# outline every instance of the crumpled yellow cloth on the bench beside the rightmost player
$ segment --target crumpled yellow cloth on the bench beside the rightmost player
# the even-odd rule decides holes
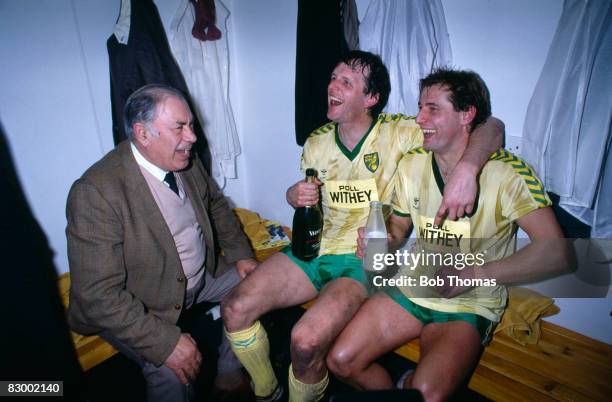
[[[535,345],[540,340],[540,318],[560,311],[555,301],[538,292],[513,287],[509,289],[508,306],[495,333],[503,331],[521,345]]]

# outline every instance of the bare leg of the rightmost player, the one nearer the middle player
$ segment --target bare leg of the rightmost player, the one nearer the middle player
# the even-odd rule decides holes
[[[384,293],[375,294],[346,326],[327,356],[327,366],[358,389],[393,388],[374,361],[421,333],[423,324]]]

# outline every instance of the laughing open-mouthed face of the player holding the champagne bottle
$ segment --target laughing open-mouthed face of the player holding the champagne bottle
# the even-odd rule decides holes
[[[361,69],[352,69],[340,63],[332,72],[327,86],[327,118],[342,124],[368,116],[368,109],[376,104],[378,96],[366,95]]]

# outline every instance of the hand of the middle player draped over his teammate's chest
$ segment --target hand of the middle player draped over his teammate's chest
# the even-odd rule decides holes
[[[444,185],[444,198],[436,213],[434,225],[440,226],[447,218],[452,221],[471,214],[478,194],[476,173],[469,166],[458,163]]]

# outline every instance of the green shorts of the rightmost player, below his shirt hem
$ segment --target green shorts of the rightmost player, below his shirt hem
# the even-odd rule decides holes
[[[480,334],[480,340],[483,345],[487,345],[493,336],[495,323],[478,314],[472,313],[445,313],[443,311],[432,310],[427,307],[420,306],[402,293],[397,286],[385,287],[384,292],[393,301],[402,306],[406,311],[412,314],[423,325],[431,323],[443,323],[451,321],[465,321],[471,324]]]

